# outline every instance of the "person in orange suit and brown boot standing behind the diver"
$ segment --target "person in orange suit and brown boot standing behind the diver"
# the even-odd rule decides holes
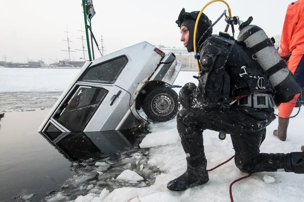
[[[284,59],[289,58],[288,69],[304,86],[304,1],[302,0],[291,3],[287,8],[278,53]],[[273,134],[282,141],[286,140],[289,118],[299,95],[295,95],[289,103],[282,103],[278,107],[278,130],[274,130]]]

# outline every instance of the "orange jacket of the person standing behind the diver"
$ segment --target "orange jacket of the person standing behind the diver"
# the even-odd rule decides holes
[[[304,0],[291,3],[286,11],[278,53],[284,57],[289,52],[304,54]]]

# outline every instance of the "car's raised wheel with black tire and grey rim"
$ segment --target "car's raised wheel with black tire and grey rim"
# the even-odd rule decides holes
[[[165,122],[176,116],[179,107],[178,94],[172,88],[161,86],[147,93],[142,109],[150,120]]]

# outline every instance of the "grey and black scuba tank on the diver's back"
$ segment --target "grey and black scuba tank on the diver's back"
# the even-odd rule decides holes
[[[240,23],[238,41],[242,41],[252,52],[252,58],[267,72],[270,82],[275,89],[274,102],[277,106],[288,103],[301,93],[303,88],[288,69],[286,62],[276,51],[273,41],[256,25],[250,25],[250,17]]]

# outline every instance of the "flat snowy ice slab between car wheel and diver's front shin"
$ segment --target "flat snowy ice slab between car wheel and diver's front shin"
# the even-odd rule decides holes
[[[176,143],[179,139],[177,129],[166,130],[162,132],[150,133],[141,141],[139,146],[141,148],[166,145]]]

